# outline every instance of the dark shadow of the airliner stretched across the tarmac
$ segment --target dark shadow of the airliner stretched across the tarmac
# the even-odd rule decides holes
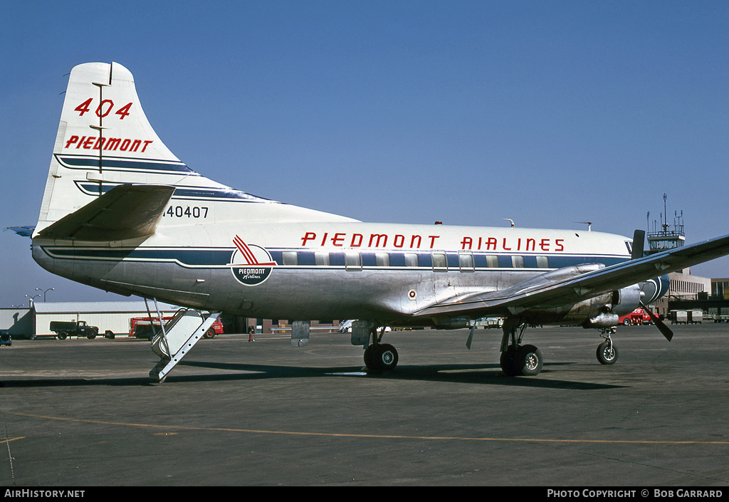
[[[549,366],[565,366],[571,363],[545,364],[543,374],[553,373]],[[393,371],[364,371],[362,367],[334,366],[329,368],[312,368],[297,366],[277,366],[244,363],[215,363],[211,361],[182,361],[180,366],[193,368],[211,368],[227,371],[225,374],[171,374],[161,385],[174,385],[186,382],[226,382],[259,379],[303,379],[303,378],[378,378],[391,380],[420,380],[424,382],[451,382],[464,385],[506,385],[510,387],[542,387],[563,390],[604,390],[623,388],[624,385],[598,384],[558,379],[541,379],[539,376],[511,377],[504,376],[496,364],[443,364],[429,366],[398,366]],[[160,385],[152,383],[146,377],[114,377],[95,376],[67,378],[31,377],[28,379],[9,379],[3,382],[4,387],[74,387],[95,385],[144,386]]]

